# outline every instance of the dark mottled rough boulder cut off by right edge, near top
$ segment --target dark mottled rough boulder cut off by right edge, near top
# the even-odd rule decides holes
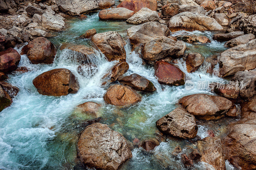
[[[256,35],[256,15],[245,17],[240,26],[244,33],[252,33]]]

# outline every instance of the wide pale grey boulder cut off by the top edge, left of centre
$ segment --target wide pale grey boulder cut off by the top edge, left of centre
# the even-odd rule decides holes
[[[59,6],[60,11],[71,16],[99,9],[97,0],[56,0],[56,4]]]

